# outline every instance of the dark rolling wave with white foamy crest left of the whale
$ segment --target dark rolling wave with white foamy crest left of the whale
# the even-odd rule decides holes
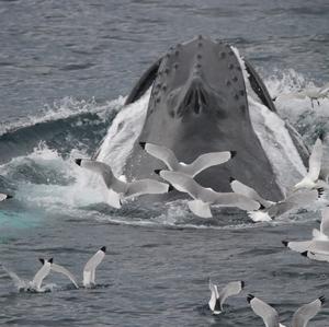
[[[39,141],[63,155],[71,149],[92,152],[123,104],[122,96],[105,105],[66,97],[39,116],[8,124],[5,128],[4,122],[0,130],[0,162],[31,153]]]

